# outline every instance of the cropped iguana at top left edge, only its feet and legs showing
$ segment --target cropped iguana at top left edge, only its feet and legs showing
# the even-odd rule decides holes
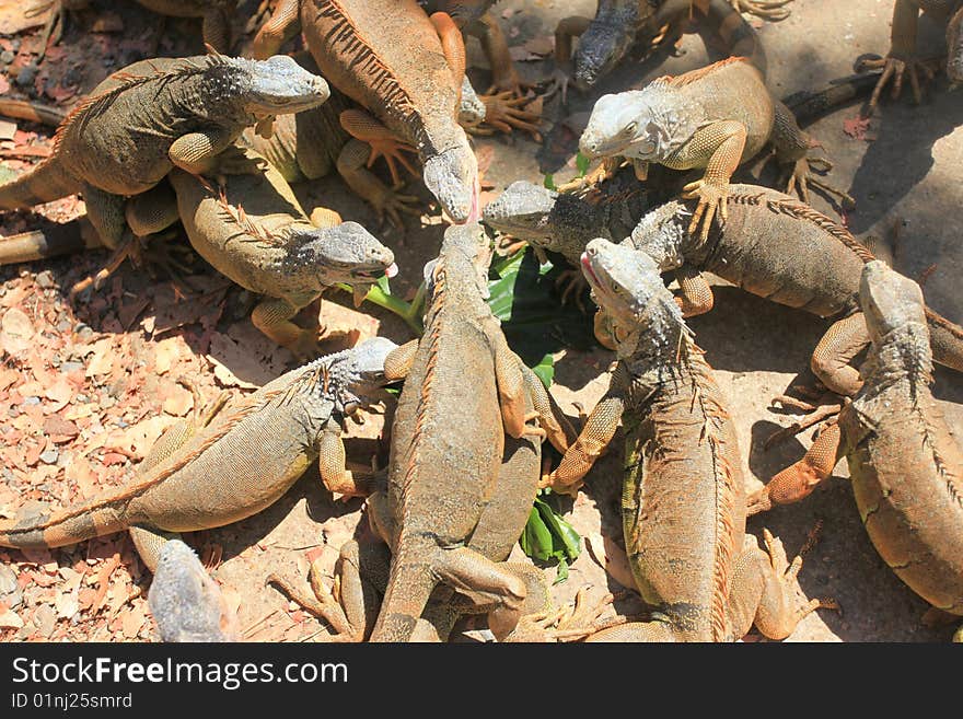
[[[161,15],[172,18],[200,18],[204,21],[204,42],[218,53],[227,53],[231,44],[231,13],[237,0],[137,0],[137,2]],[[49,10],[50,14],[40,35],[40,55],[44,59],[47,43],[60,42],[63,33],[63,18],[67,12],[77,12],[90,7],[90,0],[47,0],[27,9],[27,16],[36,16]]]

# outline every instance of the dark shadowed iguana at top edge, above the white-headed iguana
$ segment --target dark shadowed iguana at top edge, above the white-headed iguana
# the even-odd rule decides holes
[[[546,96],[561,93],[566,102],[568,84],[575,82],[582,91],[592,88],[618,67],[633,48],[660,45],[676,35],[683,25],[700,19],[729,49],[730,55],[752,58],[766,73],[766,55],[755,30],[743,20],[740,4],[752,4],[761,16],[782,20],[789,11],[782,5],[791,0],[771,3],[740,3],[727,0],[600,0],[594,18],[562,18],[555,30],[555,71]],[[572,39],[578,47],[572,51]]]

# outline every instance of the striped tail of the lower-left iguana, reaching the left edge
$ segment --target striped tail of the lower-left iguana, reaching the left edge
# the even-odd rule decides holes
[[[53,514],[39,514],[0,522],[0,546],[44,549],[77,544],[95,536],[126,530],[124,517],[128,500],[95,499]]]

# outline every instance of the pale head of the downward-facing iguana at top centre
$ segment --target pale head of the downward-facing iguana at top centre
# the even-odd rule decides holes
[[[475,222],[480,213],[478,163],[465,131],[455,127],[457,141],[422,156],[425,185],[455,224]]]

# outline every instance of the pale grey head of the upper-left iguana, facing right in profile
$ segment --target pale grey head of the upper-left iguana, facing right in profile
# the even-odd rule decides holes
[[[287,55],[243,61],[251,63],[246,108],[253,115],[300,113],[322,105],[330,96],[324,78],[309,72]]]

